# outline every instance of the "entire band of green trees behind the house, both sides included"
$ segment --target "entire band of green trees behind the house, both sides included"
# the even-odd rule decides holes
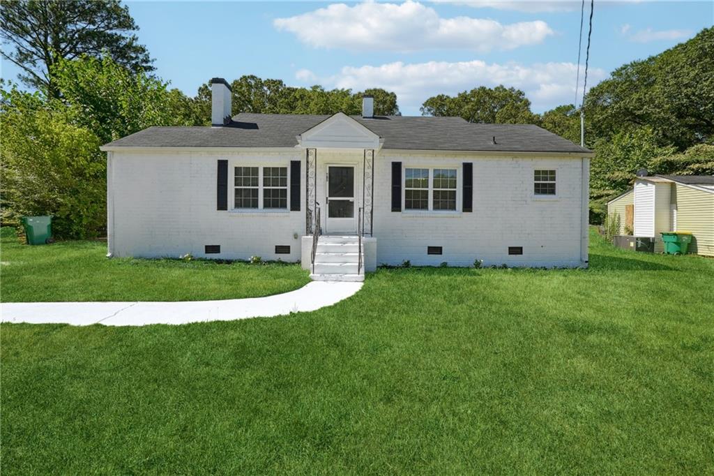
[[[3,81],[0,98],[0,207],[4,223],[53,214],[58,237],[106,230],[106,157],[101,144],[150,126],[201,126],[211,120],[211,89],[186,96],[156,77],[133,19],[118,0],[8,0],[0,11],[2,54],[22,67],[29,93]],[[14,46],[14,49],[12,48]],[[231,81],[233,114],[359,114],[364,94],[375,113],[399,114],[383,89],[293,87],[280,79]],[[591,165],[591,218],[630,187],[637,169],[714,173],[714,29],[613,71],[585,98]],[[538,124],[578,143],[572,104],[531,111],[523,91],[478,86],[424,101],[422,114],[470,122]]]

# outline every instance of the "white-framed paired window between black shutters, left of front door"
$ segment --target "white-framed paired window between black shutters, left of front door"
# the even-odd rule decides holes
[[[287,209],[288,167],[235,167],[236,209]]]

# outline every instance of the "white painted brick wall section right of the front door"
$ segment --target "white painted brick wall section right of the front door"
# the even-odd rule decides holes
[[[393,161],[403,168],[458,167],[460,175],[461,164],[473,162],[473,212],[428,217],[391,212]],[[533,196],[537,168],[557,170],[557,198]],[[580,169],[580,159],[380,154],[375,174],[377,262],[469,266],[483,259],[485,265],[579,266]],[[443,247],[443,254],[426,254],[431,245]],[[523,247],[523,255],[509,256],[509,246]]]

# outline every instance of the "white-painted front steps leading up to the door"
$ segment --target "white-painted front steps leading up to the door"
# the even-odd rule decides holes
[[[364,259],[364,251],[362,254]],[[354,236],[322,235],[317,242],[315,281],[364,281],[364,265],[359,267],[359,239]]]

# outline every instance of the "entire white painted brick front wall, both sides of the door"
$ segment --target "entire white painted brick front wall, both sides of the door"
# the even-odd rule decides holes
[[[275,153],[114,152],[109,167],[109,234],[115,256],[206,256],[206,244],[220,244],[212,258],[298,261],[305,234],[305,155],[301,150]],[[362,154],[318,151],[318,202],[324,204],[325,166],[358,165],[361,202]],[[301,160],[300,212],[216,211],[216,161],[228,159],[228,206],[233,202],[233,167],[237,164],[288,167]],[[403,167],[458,167],[473,162],[473,212],[414,214],[391,212],[391,162]],[[377,264],[470,266],[580,266],[582,220],[581,160],[478,157],[466,154],[397,154],[382,151],[375,160],[374,236]],[[555,199],[533,196],[533,170],[556,169]],[[113,196],[113,198],[111,198]],[[356,207],[358,204],[356,205]],[[461,204],[459,204],[461,207]],[[324,209],[323,209],[324,214]],[[113,216],[112,216],[113,215]],[[298,239],[293,237],[297,234]],[[276,244],[289,244],[291,254],[274,254]],[[427,246],[443,255],[426,254]],[[509,256],[508,247],[523,247]]]

